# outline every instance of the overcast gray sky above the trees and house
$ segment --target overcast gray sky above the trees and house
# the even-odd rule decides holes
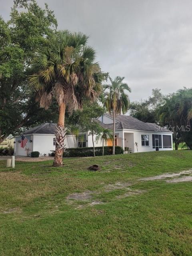
[[[40,6],[45,0],[37,1]],[[192,87],[192,1],[46,0],[58,29],[90,36],[102,70],[125,76],[131,100],[161,88],[164,94]],[[12,0],[0,0],[8,19]]]

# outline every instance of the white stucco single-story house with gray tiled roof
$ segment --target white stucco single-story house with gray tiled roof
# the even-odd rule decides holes
[[[112,129],[113,118],[110,114],[104,114],[98,118],[98,122],[102,127]],[[39,151],[43,156],[55,150],[55,131],[56,124],[45,123],[23,132],[28,139],[25,148],[20,146],[21,136],[15,137],[14,154],[16,156],[27,156],[32,151]],[[76,141],[72,134],[67,135],[65,144],[67,148],[76,147],[92,147],[92,137],[85,130],[80,131],[78,140]],[[172,150],[172,132],[165,127],[156,124],[144,123],[136,118],[126,115],[118,115],[116,117],[115,144],[128,152],[146,152],[155,150]],[[102,146],[100,140],[95,146]],[[105,146],[112,146],[112,141],[108,140]]]

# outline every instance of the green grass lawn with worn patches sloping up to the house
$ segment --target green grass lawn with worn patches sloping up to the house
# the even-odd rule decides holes
[[[138,180],[189,170],[192,151],[51,164],[0,161],[1,256],[192,255],[192,182]]]

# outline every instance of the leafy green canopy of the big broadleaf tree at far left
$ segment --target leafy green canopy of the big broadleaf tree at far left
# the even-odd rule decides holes
[[[54,13],[34,0],[16,0],[7,22],[0,17],[0,142],[23,126],[54,121],[56,108],[39,108],[28,85],[37,49],[57,27]],[[52,114],[54,113],[54,114]]]

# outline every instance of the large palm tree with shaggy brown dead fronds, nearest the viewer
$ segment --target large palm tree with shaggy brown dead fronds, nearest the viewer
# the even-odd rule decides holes
[[[58,102],[53,166],[62,165],[66,108],[69,112],[81,109],[84,99],[95,100],[102,89],[104,74],[94,62],[96,54],[87,41],[88,36],[82,33],[60,31],[34,61],[35,73],[30,76],[30,83],[36,89],[40,107],[48,109],[53,96]]]

